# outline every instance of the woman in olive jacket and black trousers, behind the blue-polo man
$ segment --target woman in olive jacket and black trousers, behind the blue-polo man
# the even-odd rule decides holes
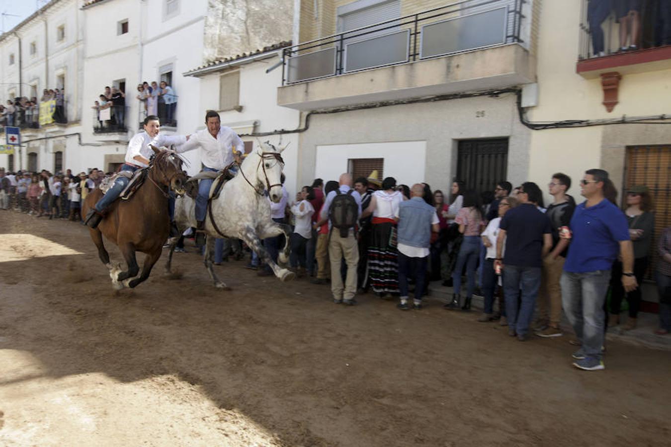
[[[605,187],[605,186],[604,186]],[[652,196],[647,186],[632,186],[627,191],[627,204],[623,209],[629,222],[629,236],[633,245],[633,274],[639,284],[643,283],[643,275],[648,270],[650,247],[655,228],[655,215],[652,212]],[[619,324],[622,298],[629,304],[629,320],[622,326],[624,330],[636,328],[636,318],[641,306],[641,288],[625,293],[621,281],[622,262],[615,261],[611,273],[611,316],[609,326]]]

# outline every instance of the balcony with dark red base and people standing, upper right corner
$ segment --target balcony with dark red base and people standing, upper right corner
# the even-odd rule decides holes
[[[660,2],[660,11],[646,6],[625,14],[615,8],[601,8],[599,3],[582,0],[580,51],[576,72],[586,79],[617,72],[619,75],[671,69],[671,35],[658,23],[662,8],[671,2]],[[666,11],[668,15],[671,11]],[[635,35],[627,32],[639,29]]]

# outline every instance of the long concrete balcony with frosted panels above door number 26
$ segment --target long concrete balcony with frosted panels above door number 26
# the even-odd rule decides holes
[[[535,82],[527,6],[460,1],[287,48],[278,104],[309,111]]]

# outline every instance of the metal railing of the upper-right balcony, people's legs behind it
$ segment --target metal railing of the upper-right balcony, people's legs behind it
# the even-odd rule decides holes
[[[639,3],[638,10],[625,11],[616,2],[582,0],[578,60],[671,45],[664,21],[671,16],[671,1]]]

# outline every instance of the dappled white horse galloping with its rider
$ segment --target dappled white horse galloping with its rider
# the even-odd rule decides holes
[[[278,266],[264,249],[262,239],[285,235],[285,247],[279,253],[278,261],[287,263],[289,259],[289,225],[274,222],[270,217],[270,202],[268,198],[278,203],[282,198],[282,184],[280,176],[284,162],[280,153],[285,147],[276,148],[266,141],[260,143],[260,149],[247,155],[240,166],[240,171],[224,184],[216,200],[211,201],[211,208],[207,208],[205,218],[205,268],[217,288],[229,290],[228,286],[220,281],[212,268],[215,238],[229,237],[242,239],[250,249],[256,251],[261,261],[268,263],[276,277],[282,281],[293,279],[294,273]],[[217,182],[213,182],[215,188]],[[268,198],[264,192],[268,191]],[[189,196],[178,197],[175,200],[174,220],[177,227],[183,231],[188,227],[196,227],[196,202]],[[214,219],[214,222],[212,221]],[[170,274],[170,263],[174,245],[178,238],[170,240],[170,254],[166,264],[166,273]]]

